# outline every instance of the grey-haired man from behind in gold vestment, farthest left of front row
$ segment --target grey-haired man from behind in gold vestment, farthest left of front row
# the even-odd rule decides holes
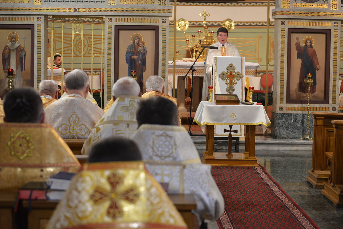
[[[38,89],[44,108],[58,99],[58,85],[54,80],[43,80]]]

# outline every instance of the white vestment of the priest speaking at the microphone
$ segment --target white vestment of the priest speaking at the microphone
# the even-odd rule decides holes
[[[223,46],[221,43],[217,42],[211,46],[218,47],[218,49],[209,49],[206,56],[204,82],[202,84],[202,97],[201,100],[204,101],[207,97],[208,86],[211,85],[211,73],[212,73],[212,62],[214,56],[240,56],[239,51],[235,44],[230,44],[226,42]]]

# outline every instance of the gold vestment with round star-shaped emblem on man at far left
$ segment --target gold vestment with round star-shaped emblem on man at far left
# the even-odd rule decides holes
[[[0,189],[47,181],[59,171],[76,173],[81,167],[67,143],[47,124],[2,123],[0,149]]]

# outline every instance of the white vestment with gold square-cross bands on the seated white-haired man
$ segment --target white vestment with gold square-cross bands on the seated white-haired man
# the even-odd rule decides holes
[[[104,138],[120,136],[131,139],[138,128],[136,110],[141,100],[142,98],[138,96],[119,96],[94,126],[83,144],[81,153],[89,154],[94,144]]]

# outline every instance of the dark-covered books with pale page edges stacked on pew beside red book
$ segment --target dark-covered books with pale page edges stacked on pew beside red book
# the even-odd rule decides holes
[[[75,173],[68,173],[68,172],[59,172],[55,175],[52,175],[48,180],[48,190],[46,192],[47,199],[51,200],[61,200],[66,193],[71,179]]]

